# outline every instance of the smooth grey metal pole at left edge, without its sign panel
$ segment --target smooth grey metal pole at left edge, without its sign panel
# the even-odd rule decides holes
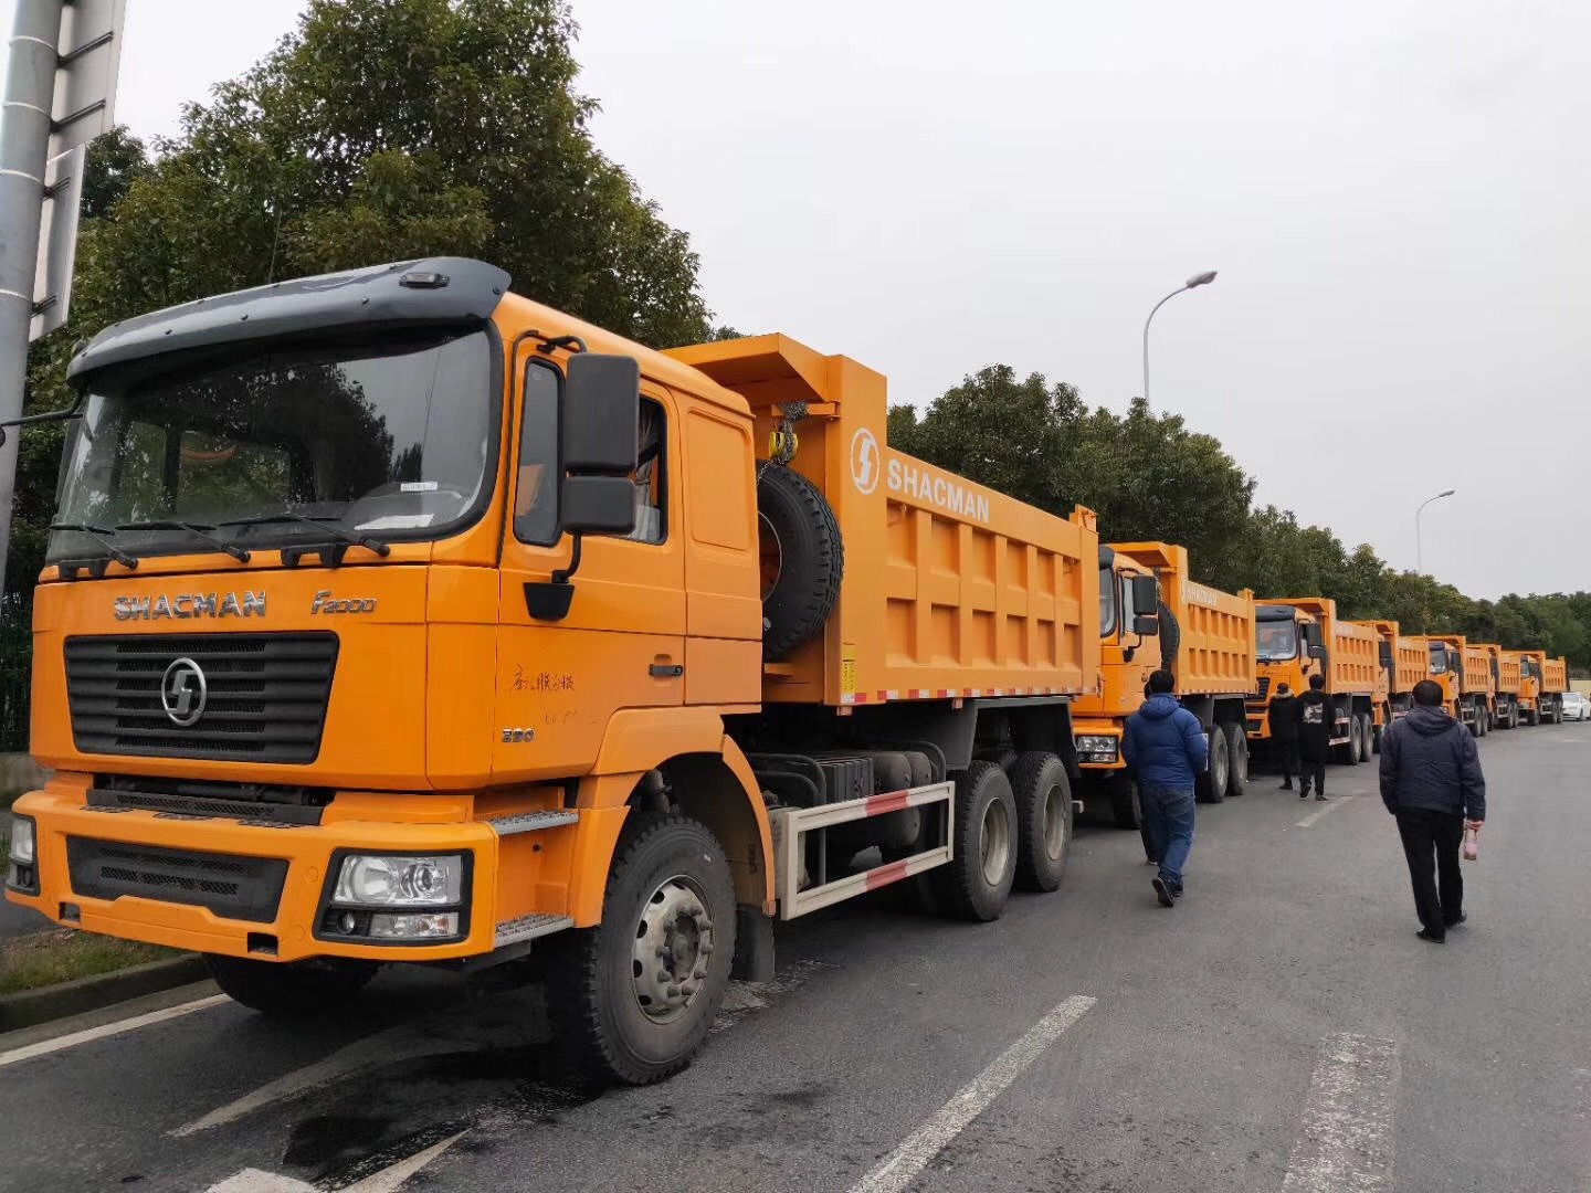
[[[0,116],[0,422],[22,415],[62,0],[18,0]],[[11,547],[18,434],[0,447],[0,585]]]

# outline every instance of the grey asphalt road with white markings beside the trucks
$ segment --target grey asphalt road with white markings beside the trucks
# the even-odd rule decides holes
[[[557,1077],[533,986],[401,970],[309,1028],[194,988],[0,1037],[0,1188],[1583,1193],[1591,725],[1481,748],[1441,946],[1373,767],[1325,805],[1255,778],[1200,810],[1171,911],[1136,834],[1085,826],[994,924],[880,894],[783,927],[780,980],[648,1090]]]

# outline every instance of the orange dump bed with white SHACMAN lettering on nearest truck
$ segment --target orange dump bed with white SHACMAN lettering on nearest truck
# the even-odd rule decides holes
[[[764,700],[832,706],[1091,690],[1099,534],[893,450],[885,379],[784,336],[676,348],[794,431],[845,546],[824,633],[764,668]],[[794,417],[794,418],[792,418]]]

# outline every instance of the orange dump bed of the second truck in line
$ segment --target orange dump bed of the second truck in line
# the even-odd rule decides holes
[[[1181,643],[1177,695],[1247,695],[1255,689],[1254,593],[1220,592],[1188,574],[1187,547],[1169,542],[1112,542],[1160,579],[1160,598],[1176,617]],[[1165,649],[1165,643],[1160,644]],[[1171,662],[1171,660],[1166,660]]]

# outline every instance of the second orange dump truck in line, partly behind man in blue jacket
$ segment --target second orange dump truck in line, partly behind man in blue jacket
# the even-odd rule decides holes
[[[1136,784],[1122,760],[1126,717],[1150,671],[1177,678],[1177,697],[1209,738],[1198,795],[1241,795],[1249,776],[1243,701],[1254,690],[1254,593],[1217,592],[1188,574],[1185,547],[1112,542],[1099,549],[1099,690],[1072,705],[1079,795],[1125,829],[1139,826]]]

